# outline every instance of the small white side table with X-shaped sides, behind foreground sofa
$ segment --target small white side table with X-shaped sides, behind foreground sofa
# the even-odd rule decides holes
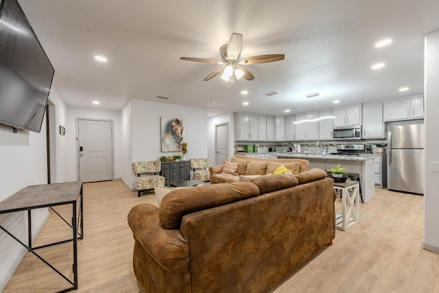
[[[342,191],[342,214],[335,214],[335,227],[342,231],[359,222],[359,182],[334,182],[334,189]]]

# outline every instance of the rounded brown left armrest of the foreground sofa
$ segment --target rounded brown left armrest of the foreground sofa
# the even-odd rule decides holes
[[[158,220],[158,208],[139,204],[128,213],[134,239],[169,272],[179,272],[189,265],[189,244],[178,229],[165,229]]]

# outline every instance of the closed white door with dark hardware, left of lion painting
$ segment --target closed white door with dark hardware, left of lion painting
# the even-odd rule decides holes
[[[112,180],[112,121],[78,119],[78,158],[80,181]]]

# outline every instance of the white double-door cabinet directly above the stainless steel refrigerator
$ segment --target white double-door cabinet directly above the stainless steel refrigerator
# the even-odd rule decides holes
[[[384,121],[420,119],[424,117],[422,96],[392,99],[384,102]]]

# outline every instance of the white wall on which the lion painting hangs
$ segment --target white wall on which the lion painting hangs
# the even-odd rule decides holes
[[[135,161],[153,161],[161,156],[181,154],[181,152],[161,152],[161,117],[185,119],[185,141],[187,159],[207,156],[207,110],[157,102],[131,100],[132,121],[132,161],[123,162],[131,166]],[[141,142],[137,142],[141,141]],[[132,190],[134,174],[132,174]]]

